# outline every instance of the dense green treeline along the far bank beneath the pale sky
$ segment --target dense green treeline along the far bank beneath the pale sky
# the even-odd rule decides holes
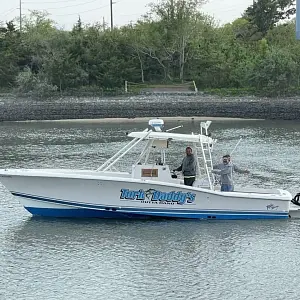
[[[112,89],[124,81],[195,80],[198,89],[231,88],[268,95],[300,89],[300,42],[293,0],[257,0],[241,18],[217,26],[204,0],[163,0],[136,24],[59,30],[32,12],[0,26],[0,88],[51,94]]]

